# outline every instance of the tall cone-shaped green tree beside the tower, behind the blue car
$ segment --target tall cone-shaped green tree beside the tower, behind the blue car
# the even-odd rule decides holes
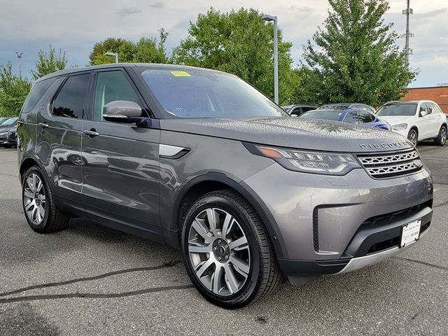
[[[304,46],[301,100],[363,102],[372,106],[402,97],[416,71],[409,70],[398,35],[382,19],[386,0],[328,0],[323,29]]]

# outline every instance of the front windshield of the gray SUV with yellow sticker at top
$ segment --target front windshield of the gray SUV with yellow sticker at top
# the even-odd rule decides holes
[[[227,73],[144,69],[141,76],[165,111],[179,118],[288,116],[244,80]]]

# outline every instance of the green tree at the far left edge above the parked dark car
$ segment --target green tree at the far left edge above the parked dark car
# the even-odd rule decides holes
[[[18,116],[31,89],[26,78],[13,75],[10,62],[0,64],[0,117]]]

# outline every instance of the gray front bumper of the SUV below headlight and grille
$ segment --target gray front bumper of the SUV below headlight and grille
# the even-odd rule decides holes
[[[379,258],[375,255],[388,255],[385,251],[395,247],[401,251],[402,225],[421,218],[423,234],[432,217],[432,180],[426,169],[372,179],[363,169],[323,176],[274,164],[241,184],[263,200],[274,218],[279,265],[288,276],[370,265]]]

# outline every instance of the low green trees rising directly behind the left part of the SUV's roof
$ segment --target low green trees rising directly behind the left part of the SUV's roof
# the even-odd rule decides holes
[[[159,30],[159,38],[141,37],[137,43],[123,38],[106,38],[106,40],[95,43],[90,52],[90,65],[108,64],[113,58],[104,55],[106,52],[118,52],[120,62],[144,62],[144,63],[167,63],[169,57],[165,51],[167,31]]]

